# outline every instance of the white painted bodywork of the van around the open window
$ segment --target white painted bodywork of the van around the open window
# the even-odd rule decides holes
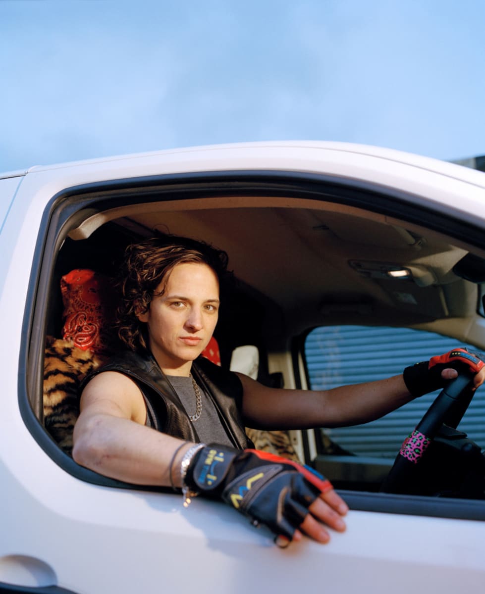
[[[82,184],[219,170],[343,176],[407,192],[410,201],[440,205],[485,226],[483,174],[338,143],[163,151],[35,167],[24,178],[0,181],[0,221],[6,216],[0,234],[0,582],[89,594],[315,587],[335,593],[408,594],[418,587],[443,594],[484,592],[485,522],[350,511],[347,532],[333,534],[330,544],[305,539],[281,550],[269,533],[225,505],[196,499],[184,509],[179,495],[75,479],[26,428],[17,400],[18,360],[34,248],[48,202]]]

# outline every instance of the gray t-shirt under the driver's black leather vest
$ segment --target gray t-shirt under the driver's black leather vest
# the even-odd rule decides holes
[[[177,396],[184,406],[187,415],[195,415],[196,393],[194,391],[192,378],[170,375],[168,376],[168,380],[177,392]],[[197,386],[199,386],[199,384],[197,384]],[[202,409],[197,421],[191,422],[194,424],[194,429],[196,429],[200,441],[203,443],[218,443],[234,447],[234,444],[229,439],[228,434],[221,424],[221,419],[219,419],[219,415],[212,400],[207,396],[201,386],[199,386],[199,390],[202,400]]]

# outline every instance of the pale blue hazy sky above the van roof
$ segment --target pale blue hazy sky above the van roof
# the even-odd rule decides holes
[[[483,0],[0,0],[0,171],[201,144],[485,154]]]

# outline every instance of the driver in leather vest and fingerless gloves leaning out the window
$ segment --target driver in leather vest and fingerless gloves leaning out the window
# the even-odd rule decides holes
[[[367,384],[263,386],[200,357],[218,321],[226,270],[225,252],[187,238],[161,236],[127,249],[119,312],[127,350],[84,386],[74,460],[125,482],[182,488],[186,503],[196,494],[221,498],[269,526],[279,544],[302,532],[327,542],[327,527],[345,530],[347,505],[307,467],[251,450],[244,426],[371,421],[456,377],[453,359],[473,369],[476,389],[483,362],[448,353]]]

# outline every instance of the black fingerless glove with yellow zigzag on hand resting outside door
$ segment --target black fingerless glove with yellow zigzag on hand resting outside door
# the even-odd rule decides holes
[[[289,540],[313,501],[332,489],[307,466],[263,451],[218,444],[206,445],[194,455],[185,484],[201,495],[222,499],[255,526],[262,523],[276,537]]]

